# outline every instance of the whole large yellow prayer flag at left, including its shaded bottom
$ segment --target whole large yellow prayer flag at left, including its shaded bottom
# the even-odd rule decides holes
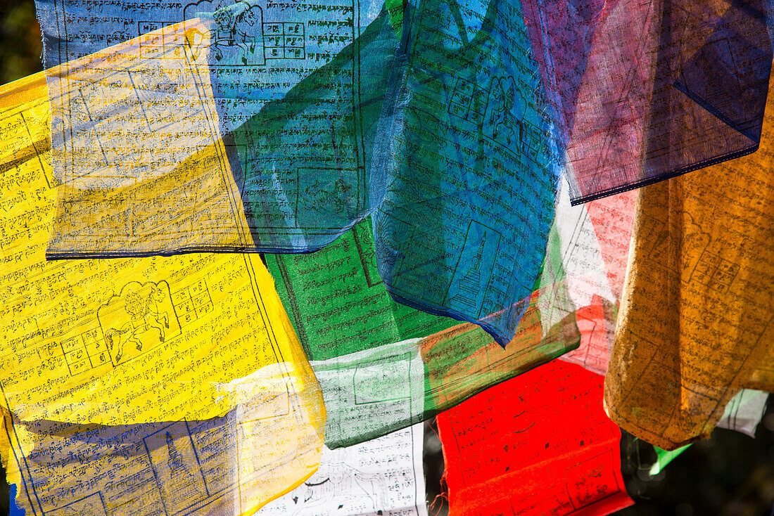
[[[0,88],[0,456],[19,506],[251,514],[324,441],[272,279],[242,255],[46,261],[48,121],[43,73]]]

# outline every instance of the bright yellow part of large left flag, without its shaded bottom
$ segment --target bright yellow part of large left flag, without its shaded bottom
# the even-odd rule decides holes
[[[304,417],[323,424],[319,385],[257,257],[46,261],[57,183],[43,73],[2,87],[0,110],[0,382],[15,417],[207,419],[234,406],[223,384],[283,364]]]

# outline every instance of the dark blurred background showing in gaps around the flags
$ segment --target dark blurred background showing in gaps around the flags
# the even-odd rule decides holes
[[[0,0],[0,84],[43,70],[33,0]],[[774,402],[755,439],[716,429],[650,477],[652,446],[624,434],[622,472],[636,504],[619,516],[774,516]],[[425,424],[425,476],[430,514],[448,512],[441,477],[444,459],[434,421]],[[518,487],[515,487],[518,488]],[[0,470],[0,514],[9,513],[9,486]]]

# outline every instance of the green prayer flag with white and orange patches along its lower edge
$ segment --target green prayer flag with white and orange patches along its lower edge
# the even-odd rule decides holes
[[[577,347],[561,279],[525,299],[503,349],[479,326],[392,302],[375,265],[361,261],[372,245],[362,228],[313,255],[265,257],[323,390],[327,446],[420,422]],[[541,318],[541,302],[553,318]]]

